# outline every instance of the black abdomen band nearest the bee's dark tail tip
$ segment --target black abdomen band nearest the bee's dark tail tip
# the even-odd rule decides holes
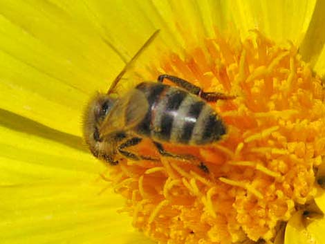
[[[183,128],[180,128],[182,131],[179,137],[180,143],[187,144],[191,139],[194,126],[198,120],[198,116],[200,115],[204,104],[205,102],[199,101],[190,106],[189,111],[184,118],[185,124],[183,125]]]

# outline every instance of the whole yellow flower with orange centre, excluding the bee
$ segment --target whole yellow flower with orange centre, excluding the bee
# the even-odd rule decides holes
[[[1,1],[1,243],[322,243],[324,12],[324,1]],[[120,91],[170,73],[235,95],[212,104],[229,129],[220,143],[166,145],[209,174],[171,158],[106,167],[82,143],[86,103],[157,29]],[[155,154],[148,143],[137,152]]]

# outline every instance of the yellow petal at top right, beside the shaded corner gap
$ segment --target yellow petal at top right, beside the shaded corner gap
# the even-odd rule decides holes
[[[231,19],[242,37],[257,28],[275,41],[295,44],[308,28],[315,1],[229,1]]]

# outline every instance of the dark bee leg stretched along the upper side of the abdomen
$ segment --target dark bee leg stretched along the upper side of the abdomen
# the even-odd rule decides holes
[[[184,88],[189,93],[192,93],[194,95],[198,95],[199,97],[202,97],[202,99],[207,102],[216,102],[217,100],[230,100],[230,99],[235,98],[235,96],[225,95],[223,93],[214,93],[214,92],[206,93],[200,87],[195,86],[194,84],[187,82],[187,80],[178,78],[174,75],[166,75],[166,74],[159,75],[157,80],[158,80],[158,82],[163,83],[164,79],[169,79],[171,82],[173,82],[177,86]]]

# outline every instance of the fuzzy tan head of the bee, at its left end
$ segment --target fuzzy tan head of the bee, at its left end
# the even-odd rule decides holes
[[[115,99],[109,95],[97,93],[86,107],[83,123],[84,140],[96,157],[105,154],[103,150],[107,142],[100,135],[99,129],[114,103]]]

